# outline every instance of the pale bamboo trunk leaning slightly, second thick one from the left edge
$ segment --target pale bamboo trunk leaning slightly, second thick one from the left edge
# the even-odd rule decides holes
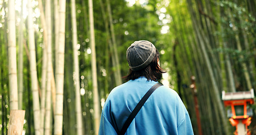
[[[35,37],[32,20],[32,1],[28,1],[28,35],[29,35],[29,52],[30,52],[30,75],[32,84],[32,95],[33,95],[33,111],[34,111],[34,128],[35,134],[41,134],[40,132],[40,103],[38,93],[38,79],[37,79],[37,61],[35,57]]]

